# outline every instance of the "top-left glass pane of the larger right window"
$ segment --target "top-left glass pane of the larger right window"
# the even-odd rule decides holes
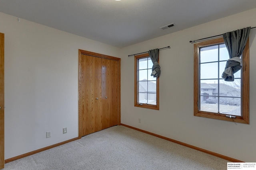
[[[200,48],[200,63],[218,61],[218,45]]]

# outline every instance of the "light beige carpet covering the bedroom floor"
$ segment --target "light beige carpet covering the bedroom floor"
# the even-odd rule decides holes
[[[226,170],[227,160],[124,126],[5,164],[4,170]]]

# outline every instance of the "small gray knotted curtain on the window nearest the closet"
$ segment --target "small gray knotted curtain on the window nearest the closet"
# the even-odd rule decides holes
[[[160,65],[158,64],[159,49],[150,50],[148,54],[153,63],[151,76],[159,77],[161,74]]]

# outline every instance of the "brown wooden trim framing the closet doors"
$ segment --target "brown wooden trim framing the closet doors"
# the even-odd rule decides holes
[[[94,53],[91,51],[85,51],[78,49],[78,138],[80,139],[82,137],[82,113],[81,113],[81,61],[82,61],[82,55],[90,55],[94,57],[100,57],[104,59],[110,59],[110,60],[116,60],[118,61],[118,125],[121,125],[121,59],[117,57],[112,57],[109,55],[103,55],[99,53]]]

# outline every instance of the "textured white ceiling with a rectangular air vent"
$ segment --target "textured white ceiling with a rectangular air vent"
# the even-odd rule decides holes
[[[116,47],[252,8],[256,0],[0,0],[0,12]]]

